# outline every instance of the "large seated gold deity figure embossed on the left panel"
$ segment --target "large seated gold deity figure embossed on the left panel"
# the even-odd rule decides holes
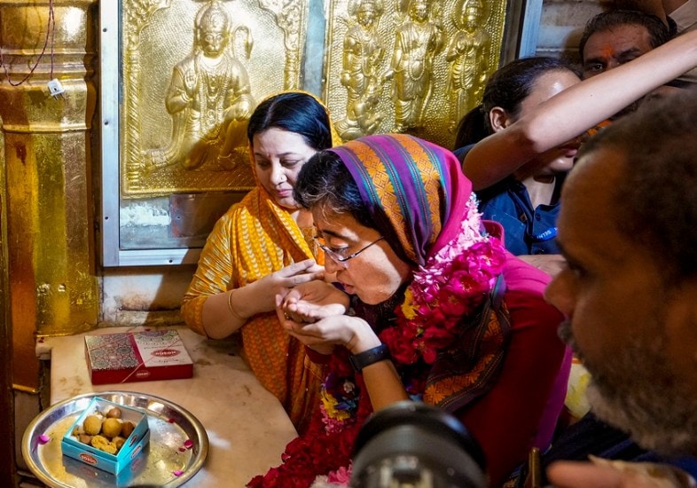
[[[246,142],[255,106],[247,69],[227,51],[230,15],[219,0],[196,15],[191,55],[174,67],[165,104],[172,115],[172,141],[150,152],[150,169],[182,164],[185,169],[231,169],[231,152]]]

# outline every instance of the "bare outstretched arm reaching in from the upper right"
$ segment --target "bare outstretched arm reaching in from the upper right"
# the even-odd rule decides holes
[[[482,139],[462,168],[474,190],[501,181],[536,155],[576,138],[664,83],[697,66],[697,32],[560,92],[505,130]]]

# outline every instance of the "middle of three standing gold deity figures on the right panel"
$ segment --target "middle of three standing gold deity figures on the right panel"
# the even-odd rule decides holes
[[[432,91],[435,55],[442,50],[442,28],[428,20],[427,0],[409,0],[410,20],[397,28],[392,58],[395,130],[423,125]]]

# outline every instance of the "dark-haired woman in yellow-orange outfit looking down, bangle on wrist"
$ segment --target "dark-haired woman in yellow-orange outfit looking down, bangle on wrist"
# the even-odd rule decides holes
[[[182,315],[201,335],[240,330],[245,356],[262,385],[302,431],[317,406],[322,368],[276,317],[275,295],[323,276],[312,216],[293,197],[302,165],[340,143],[317,98],[285,92],[255,108],[247,127],[256,187],[215,224],[184,295]]]

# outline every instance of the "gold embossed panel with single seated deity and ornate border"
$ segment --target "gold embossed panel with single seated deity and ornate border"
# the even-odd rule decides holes
[[[257,100],[297,88],[306,10],[298,0],[123,0],[121,197],[254,185],[247,120]]]

